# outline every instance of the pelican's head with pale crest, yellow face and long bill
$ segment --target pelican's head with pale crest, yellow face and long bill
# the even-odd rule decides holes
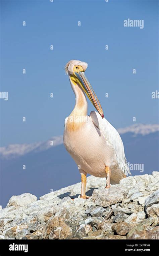
[[[74,85],[78,85],[83,89],[83,91],[86,93],[87,97],[90,99],[90,101],[92,102],[94,107],[97,109],[101,117],[104,118],[101,104],[85,75],[87,66],[88,64],[86,62],[83,62],[80,60],[70,60],[65,65],[65,72],[66,74],[69,75],[70,81]]]

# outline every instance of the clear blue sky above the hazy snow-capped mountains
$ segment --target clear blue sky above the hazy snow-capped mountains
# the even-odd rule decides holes
[[[151,98],[158,90],[157,15],[157,1],[2,0],[1,91],[8,101],[0,99],[1,146],[63,133],[75,102],[63,69],[71,59],[88,63],[86,76],[116,129],[133,117],[158,123],[158,99]],[[144,20],[144,28],[124,27],[128,18]]]

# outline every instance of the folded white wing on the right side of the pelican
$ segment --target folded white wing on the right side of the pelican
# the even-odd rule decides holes
[[[105,118],[102,119],[100,114],[96,111],[92,111],[90,117],[92,122],[98,127],[104,138],[114,149],[119,167],[122,169],[125,175],[131,175],[125,158],[124,146],[117,130],[115,130],[115,128]]]

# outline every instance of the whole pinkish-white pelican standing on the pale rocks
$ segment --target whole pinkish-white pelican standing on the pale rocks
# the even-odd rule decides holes
[[[101,104],[90,85],[85,71],[88,64],[71,60],[65,65],[75,94],[75,106],[65,119],[63,142],[66,150],[76,162],[81,173],[81,198],[86,196],[86,175],[106,178],[106,188],[117,184],[131,174],[124,154],[124,146],[119,133],[104,118]],[[96,111],[87,115],[87,99]]]

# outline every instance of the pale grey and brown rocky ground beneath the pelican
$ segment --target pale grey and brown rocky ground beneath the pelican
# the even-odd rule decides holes
[[[159,172],[105,183],[88,177],[87,200],[81,183],[40,200],[12,196],[0,210],[0,239],[159,239]]]

